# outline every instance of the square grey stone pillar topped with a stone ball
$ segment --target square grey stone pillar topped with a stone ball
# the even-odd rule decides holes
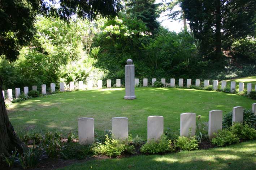
[[[133,61],[131,59],[127,59],[125,65],[125,99],[133,100],[136,99],[135,96],[135,87],[134,87],[134,72],[135,68],[133,65]]]

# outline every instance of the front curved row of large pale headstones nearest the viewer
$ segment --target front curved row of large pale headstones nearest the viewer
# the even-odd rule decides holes
[[[233,108],[233,122],[243,122],[243,107],[237,106]],[[256,115],[256,103],[252,104],[252,112]],[[164,117],[149,116],[148,117],[147,139],[158,140],[164,133]],[[213,138],[213,133],[222,130],[222,111],[209,111],[208,136]],[[196,131],[196,113],[182,113],[180,115],[180,136],[194,136]],[[78,119],[78,136],[80,144],[91,144],[94,142],[94,118]],[[114,117],[112,118],[112,137],[118,140],[128,139],[128,118]]]

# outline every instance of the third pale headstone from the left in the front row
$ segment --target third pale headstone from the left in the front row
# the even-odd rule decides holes
[[[148,116],[148,142],[158,140],[164,133],[164,117]]]

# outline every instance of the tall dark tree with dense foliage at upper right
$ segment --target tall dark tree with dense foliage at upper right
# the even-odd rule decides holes
[[[181,6],[205,56],[221,60],[232,42],[255,35],[255,0],[183,0]]]

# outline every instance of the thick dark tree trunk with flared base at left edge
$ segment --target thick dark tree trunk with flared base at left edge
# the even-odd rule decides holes
[[[19,153],[23,153],[27,146],[19,139],[9,121],[2,93],[2,86],[3,80],[0,77],[0,153],[9,155],[9,153],[15,149],[18,149]]]

